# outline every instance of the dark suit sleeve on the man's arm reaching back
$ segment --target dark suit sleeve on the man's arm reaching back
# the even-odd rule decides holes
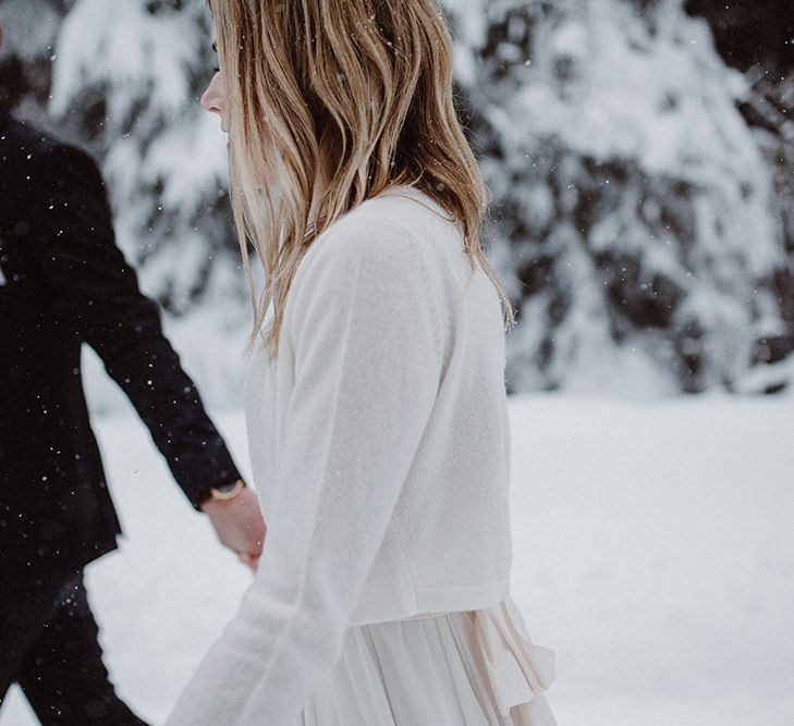
[[[56,146],[34,160],[28,184],[28,243],[58,323],[97,352],[196,506],[209,487],[240,473],[162,334],[157,305],[115,245],[96,164]]]

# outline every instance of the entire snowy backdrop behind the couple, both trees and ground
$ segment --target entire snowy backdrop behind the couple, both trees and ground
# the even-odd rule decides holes
[[[520,312],[512,591],[557,653],[559,723],[791,726],[794,2],[442,2]],[[120,244],[248,475],[204,0],[0,0],[0,103],[101,161]],[[249,574],[86,364],[125,532],[89,598],[119,692],[162,723]],[[0,723],[37,723],[19,689]]]

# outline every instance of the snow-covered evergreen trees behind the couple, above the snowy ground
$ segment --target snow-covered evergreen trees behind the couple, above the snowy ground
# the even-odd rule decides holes
[[[792,3],[443,4],[493,194],[490,254],[518,309],[510,390],[790,385]],[[225,140],[197,102],[205,3],[2,0],[0,22],[3,104],[100,159],[175,347],[212,405],[237,405],[251,315]],[[91,385],[96,408],[115,406]]]

